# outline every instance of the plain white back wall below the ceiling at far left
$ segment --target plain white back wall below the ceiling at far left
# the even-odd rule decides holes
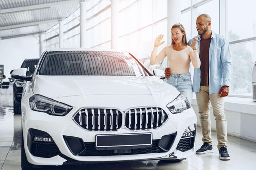
[[[4,65],[4,74],[10,77],[10,71],[20,68],[26,58],[39,58],[39,43],[33,36],[0,40],[0,64]]]

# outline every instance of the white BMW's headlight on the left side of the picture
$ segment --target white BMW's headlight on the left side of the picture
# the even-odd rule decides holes
[[[36,94],[29,98],[30,108],[49,115],[64,116],[73,108],[64,103]]]

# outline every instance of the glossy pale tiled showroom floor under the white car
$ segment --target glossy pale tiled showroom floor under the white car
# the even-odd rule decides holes
[[[199,148],[201,131],[197,127],[195,146]],[[212,132],[214,153],[193,155],[179,163],[132,161],[80,166],[53,166],[39,170],[255,170],[256,143],[228,136],[229,161],[218,159],[216,133]],[[21,170],[21,115],[13,115],[13,98],[0,95],[0,170]]]

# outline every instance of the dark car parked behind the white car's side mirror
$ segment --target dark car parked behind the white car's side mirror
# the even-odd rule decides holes
[[[39,58],[33,59],[25,59],[20,68],[27,68],[27,75],[31,76],[35,68],[38,64]],[[23,80],[15,80],[13,83],[13,113],[20,114],[21,113],[21,97],[22,97],[22,84],[24,83]]]

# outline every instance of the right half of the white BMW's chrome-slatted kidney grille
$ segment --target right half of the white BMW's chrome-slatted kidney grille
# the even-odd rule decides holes
[[[125,113],[125,126],[131,130],[154,129],[166,120],[167,114],[158,107],[135,108]]]

